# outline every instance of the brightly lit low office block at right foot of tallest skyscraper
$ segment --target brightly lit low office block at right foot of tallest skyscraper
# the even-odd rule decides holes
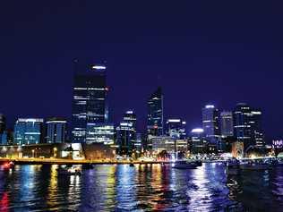
[[[88,123],[87,143],[114,145],[114,125],[111,123]]]

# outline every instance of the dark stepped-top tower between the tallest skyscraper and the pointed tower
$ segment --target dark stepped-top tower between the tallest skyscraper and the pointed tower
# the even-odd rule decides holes
[[[131,155],[136,149],[136,115],[133,111],[124,114],[123,121],[116,128],[116,140],[120,155]]]

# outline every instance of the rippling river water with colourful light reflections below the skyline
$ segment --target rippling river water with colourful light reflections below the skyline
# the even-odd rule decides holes
[[[226,174],[224,165],[96,165],[81,176],[57,165],[0,170],[0,211],[283,211],[283,168]]]

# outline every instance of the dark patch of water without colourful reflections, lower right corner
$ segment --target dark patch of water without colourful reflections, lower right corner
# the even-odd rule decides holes
[[[229,197],[247,211],[282,211],[282,174],[282,167],[227,174]]]

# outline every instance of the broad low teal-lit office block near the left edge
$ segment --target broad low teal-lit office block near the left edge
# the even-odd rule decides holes
[[[14,144],[43,143],[43,119],[19,118],[14,124]]]

